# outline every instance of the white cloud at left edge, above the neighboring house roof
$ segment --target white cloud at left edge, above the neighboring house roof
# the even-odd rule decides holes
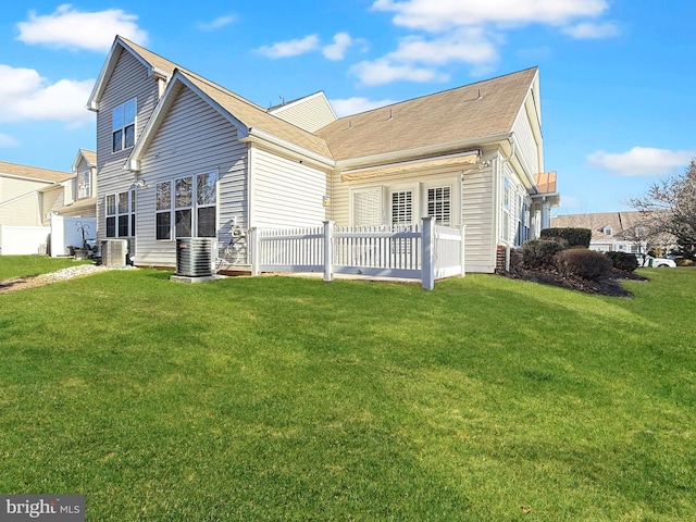
[[[33,69],[0,64],[0,122],[54,120],[71,126],[94,120],[85,103],[94,79],[61,79],[53,84]]]

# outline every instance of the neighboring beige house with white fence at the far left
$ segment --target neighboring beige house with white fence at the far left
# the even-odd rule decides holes
[[[91,219],[96,228],[96,179],[88,150],[78,151],[72,173],[0,161],[0,253],[66,253],[55,243],[72,236],[61,220]]]

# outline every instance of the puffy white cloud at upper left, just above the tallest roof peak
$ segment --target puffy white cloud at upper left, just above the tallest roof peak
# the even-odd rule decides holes
[[[18,40],[57,48],[108,51],[116,35],[147,45],[148,34],[137,25],[138,16],[121,9],[78,11],[71,4],[60,5],[54,13],[37,15],[30,11],[27,22],[20,22]]]

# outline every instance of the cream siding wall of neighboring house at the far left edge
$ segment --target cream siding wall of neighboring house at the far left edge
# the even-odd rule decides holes
[[[50,182],[32,182],[0,176],[0,203],[17,198],[11,203],[0,204],[0,225],[41,225],[39,190]]]

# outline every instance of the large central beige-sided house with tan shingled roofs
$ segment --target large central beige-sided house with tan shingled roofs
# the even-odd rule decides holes
[[[127,239],[138,265],[174,266],[177,237],[224,244],[235,226],[430,215],[465,226],[468,271],[494,272],[560,199],[535,67],[338,119],[321,91],[264,109],[116,37],[88,108],[98,238]]]

